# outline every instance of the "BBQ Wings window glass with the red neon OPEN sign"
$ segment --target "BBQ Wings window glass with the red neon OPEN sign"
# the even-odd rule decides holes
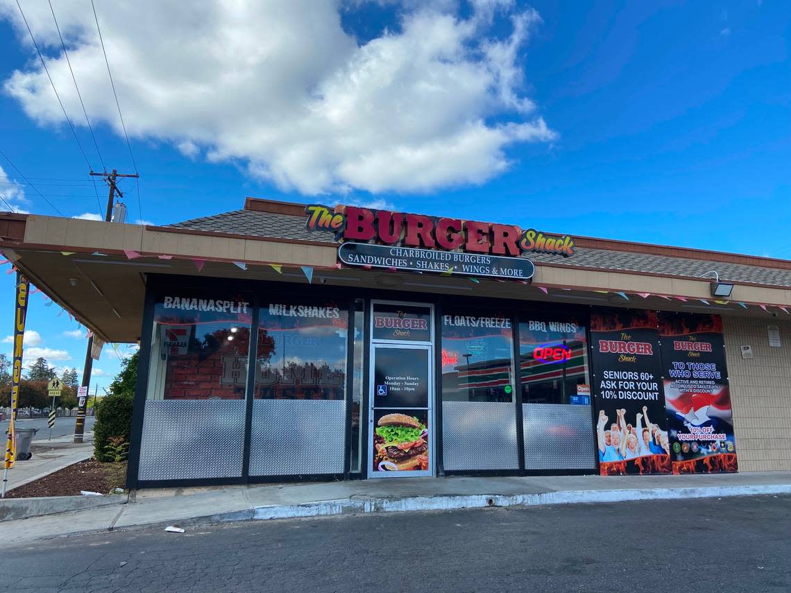
[[[588,345],[577,319],[522,319],[522,402],[590,404]]]

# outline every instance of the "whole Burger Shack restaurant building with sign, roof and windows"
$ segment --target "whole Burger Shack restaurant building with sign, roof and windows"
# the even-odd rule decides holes
[[[66,302],[36,278],[52,256],[32,222],[4,252]],[[791,376],[791,324],[773,315],[791,266],[774,260],[646,246],[635,259],[656,269],[638,271],[616,261],[636,244],[252,199],[141,238],[123,255],[88,239],[61,252],[117,300],[89,327],[137,309],[132,488],[757,469],[750,398]],[[733,294],[712,296],[701,266]],[[779,282],[740,278],[764,270]],[[755,387],[756,357],[778,380]],[[791,404],[770,408],[770,431],[791,429]]]

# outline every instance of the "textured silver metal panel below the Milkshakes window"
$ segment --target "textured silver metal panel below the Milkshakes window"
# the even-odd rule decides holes
[[[346,402],[256,399],[250,475],[343,473]]]

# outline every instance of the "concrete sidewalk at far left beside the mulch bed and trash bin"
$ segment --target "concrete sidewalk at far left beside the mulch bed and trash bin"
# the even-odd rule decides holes
[[[33,456],[18,461],[8,470],[6,490],[44,478],[73,463],[93,457],[93,432],[85,434],[83,444],[72,443],[74,436],[61,436],[52,440],[33,441]]]

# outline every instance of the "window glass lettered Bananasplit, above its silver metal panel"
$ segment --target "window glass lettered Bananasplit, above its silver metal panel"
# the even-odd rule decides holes
[[[251,319],[247,294],[162,296],[154,307],[148,398],[244,399]]]

